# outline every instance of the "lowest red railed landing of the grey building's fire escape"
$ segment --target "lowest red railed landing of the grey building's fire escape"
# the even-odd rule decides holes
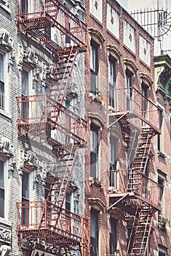
[[[59,219],[55,226],[57,213]],[[42,216],[44,216],[43,219]],[[88,243],[88,219],[73,214],[65,208],[60,208],[47,200],[17,203],[17,219],[19,242],[24,241],[25,237],[28,237],[28,233],[35,239],[44,241],[47,240],[48,233],[52,232],[53,235],[48,238],[48,243],[53,244],[53,246],[63,244],[63,238],[66,238],[68,244],[76,245],[81,241]],[[83,234],[84,237],[82,237]]]

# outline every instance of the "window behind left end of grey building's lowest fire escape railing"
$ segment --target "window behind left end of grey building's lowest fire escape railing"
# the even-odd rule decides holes
[[[22,202],[29,202],[29,173],[23,173],[22,177]],[[29,208],[25,203],[25,208],[22,210],[22,223],[28,224],[29,223]]]

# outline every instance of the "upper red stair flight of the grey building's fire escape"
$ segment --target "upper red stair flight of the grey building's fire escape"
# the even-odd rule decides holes
[[[63,104],[78,50],[61,50],[56,64],[55,78],[49,90],[49,97]]]

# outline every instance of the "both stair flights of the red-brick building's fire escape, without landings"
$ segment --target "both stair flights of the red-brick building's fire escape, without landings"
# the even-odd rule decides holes
[[[138,148],[135,151],[135,158],[132,162],[132,168],[130,171],[129,181],[127,184],[127,192],[134,192],[135,194],[141,194],[148,199],[148,191],[146,184],[148,183],[148,177],[142,178],[146,170],[148,161],[148,154],[150,151],[151,140],[154,138],[155,130],[151,127],[142,127],[140,138],[138,142]],[[143,184],[145,183],[145,184]],[[140,186],[141,184],[141,186]],[[140,191],[140,188],[143,191]],[[129,256],[146,256],[148,248],[148,238],[151,233],[151,226],[154,219],[154,213],[156,208],[151,206],[150,200],[146,200],[146,203],[141,198],[140,211],[136,215],[138,217],[138,224],[132,227],[132,233],[130,240],[132,243],[132,250]],[[130,244],[129,244],[130,246]],[[129,252],[129,247],[127,251]]]

